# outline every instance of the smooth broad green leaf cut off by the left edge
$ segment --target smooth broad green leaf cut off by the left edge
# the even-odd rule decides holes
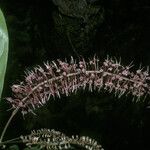
[[[0,98],[3,90],[4,77],[8,57],[8,32],[5,18],[0,10]]]

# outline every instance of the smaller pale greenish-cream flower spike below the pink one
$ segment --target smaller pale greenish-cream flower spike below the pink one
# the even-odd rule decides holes
[[[21,136],[20,138],[27,146],[32,147],[37,145],[40,149],[62,150],[70,149],[78,145],[87,150],[104,150],[101,145],[98,145],[95,140],[89,137],[79,137],[77,135],[68,137],[59,131],[49,129],[33,130],[31,134]]]

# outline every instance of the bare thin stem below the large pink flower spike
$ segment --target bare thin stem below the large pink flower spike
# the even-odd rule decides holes
[[[13,117],[16,115],[16,113],[18,112],[19,108],[20,108],[20,107],[17,107],[17,108],[12,112],[10,118],[8,119],[8,121],[7,121],[7,123],[6,123],[5,127],[4,127],[4,129],[3,129],[3,131],[2,131],[2,134],[1,134],[1,137],[0,137],[0,143],[1,143],[2,140],[3,140],[3,137],[4,137],[4,135],[5,135],[5,132],[6,132],[7,128],[8,128],[8,126],[9,126],[11,120],[12,120]]]

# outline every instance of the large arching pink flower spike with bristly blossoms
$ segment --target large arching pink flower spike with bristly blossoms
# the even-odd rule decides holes
[[[70,63],[47,62],[26,72],[25,81],[12,86],[13,97],[7,100],[12,108],[19,107],[23,115],[42,106],[50,97],[69,96],[81,88],[89,91],[103,88],[119,97],[132,94],[139,100],[150,94],[150,76],[148,69],[133,73],[131,67],[109,58],[101,63],[95,57],[87,62],[83,58],[76,62],[73,57]]]

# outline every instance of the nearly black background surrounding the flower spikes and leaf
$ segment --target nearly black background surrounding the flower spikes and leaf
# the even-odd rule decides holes
[[[78,37],[73,34],[80,35],[85,23],[61,14],[51,0],[0,0],[10,39],[3,97],[11,95],[10,86],[23,79],[24,70],[41,65],[46,60],[64,59],[71,55],[87,58],[96,54],[102,61],[107,55],[121,57],[125,65],[133,61],[135,69],[140,64],[150,65],[149,0],[99,0],[92,5],[104,10],[102,14],[97,14],[102,18],[99,20],[97,16],[94,29]],[[59,13],[69,25],[77,24],[69,30],[73,33],[71,40],[75,49],[65,36],[63,27],[60,28],[59,21],[54,23]],[[92,22],[89,24],[92,25]],[[118,99],[105,91],[79,91],[70,97],[62,96],[61,100],[51,100],[37,110],[37,116],[29,114],[24,120],[18,113],[5,138],[17,137],[33,129],[54,128],[67,135],[93,137],[105,150],[149,150],[148,99],[135,103],[132,97]],[[6,111],[9,108],[3,100],[1,130],[10,116],[11,111]]]

